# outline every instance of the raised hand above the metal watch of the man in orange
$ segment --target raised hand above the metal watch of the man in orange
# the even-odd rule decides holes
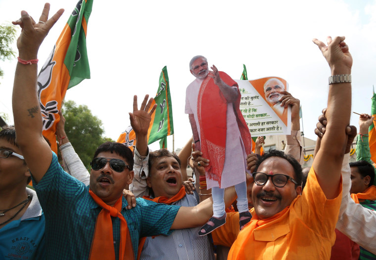
[[[349,52],[349,46],[344,40],[344,36],[335,37],[334,39],[328,36],[328,46],[316,38],[312,40],[328,61],[332,75],[351,74],[352,57]]]

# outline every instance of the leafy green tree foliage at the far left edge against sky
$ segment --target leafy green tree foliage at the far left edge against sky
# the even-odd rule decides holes
[[[11,45],[16,38],[16,27],[11,24],[0,25],[0,60],[10,60],[15,57]],[[0,69],[0,77],[4,72]]]

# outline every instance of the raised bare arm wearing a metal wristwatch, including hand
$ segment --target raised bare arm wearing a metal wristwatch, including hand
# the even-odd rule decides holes
[[[350,75],[352,57],[345,37],[328,37],[328,46],[314,39],[328,61],[331,75]],[[347,142],[346,126],[350,122],[351,83],[329,85],[328,108],[326,111],[326,133],[321,140],[320,150],[313,162],[317,180],[327,199],[334,199],[340,190],[341,165]]]

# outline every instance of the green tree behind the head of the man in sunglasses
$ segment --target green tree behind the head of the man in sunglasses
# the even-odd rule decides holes
[[[102,122],[92,114],[88,106],[77,106],[74,101],[64,102],[65,133],[81,161],[89,169],[96,148],[111,138],[103,137]]]

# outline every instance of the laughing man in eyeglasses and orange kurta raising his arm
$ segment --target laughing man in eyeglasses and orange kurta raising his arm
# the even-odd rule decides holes
[[[314,39],[329,63],[331,76],[351,74],[352,58],[344,39],[328,37],[328,46]],[[326,134],[317,141],[302,195],[301,167],[296,161],[272,151],[257,163],[253,217],[235,238],[229,260],[329,260],[341,202],[341,165],[352,141],[345,131],[351,109],[348,79],[329,78]],[[220,230],[213,233],[215,241],[220,240],[216,237]]]

